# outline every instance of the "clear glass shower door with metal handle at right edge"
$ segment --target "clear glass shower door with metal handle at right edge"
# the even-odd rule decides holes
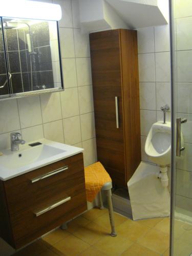
[[[171,254],[188,256],[192,255],[192,0],[169,2],[174,124]]]

